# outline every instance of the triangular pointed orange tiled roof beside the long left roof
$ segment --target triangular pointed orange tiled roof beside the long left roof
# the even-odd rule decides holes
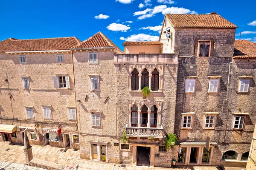
[[[72,47],[72,48],[97,48],[97,47],[114,47],[119,51],[122,51],[120,48],[118,48],[111,40],[108,39],[104,34],[101,32],[98,32],[94,34],[92,37],[88,38],[87,40],[84,40],[83,42],[79,43],[78,45]]]

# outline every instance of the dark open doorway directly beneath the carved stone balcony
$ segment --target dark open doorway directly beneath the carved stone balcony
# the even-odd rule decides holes
[[[150,166],[150,147],[137,146],[137,165]]]

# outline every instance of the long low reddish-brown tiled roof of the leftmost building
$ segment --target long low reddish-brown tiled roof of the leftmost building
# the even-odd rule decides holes
[[[50,51],[69,50],[72,46],[79,44],[81,40],[76,37],[41,38],[17,40],[9,38],[0,41],[0,51]]]

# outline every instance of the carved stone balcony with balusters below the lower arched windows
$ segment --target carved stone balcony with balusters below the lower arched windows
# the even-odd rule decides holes
[[[164,138],[163,126],[160,127],[128,127],[126,125],[126,136],[137,138]]]

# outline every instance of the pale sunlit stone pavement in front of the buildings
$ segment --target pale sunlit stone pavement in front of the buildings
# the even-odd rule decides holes
[[[152,170],[150,167],[132,167],[129,164],[113,164],[99,161],[90,161],[85,159],[80,159],[79,150],[73,149],[63,149],[58,147],[50,146],[38,146],[32,145],[33,158],[41,159],[44,161],[53,162],[60,164],[60,166],[65,166],[65,169],[69,167],[75,167],[76,164],[79,165],[79,170]],[[9,144],[9,142],[0,142],[0,162],[10,162],[17,164],[25,164],[25,156],[23,151],[23,146],[19,144]],[[16,165],[13,165],[16,166]],[[0,170],[2,170],[0,164]],[[224,167],[226,170],[242,170],[245,168],[236,167]],[[32,168],[31,168],[32,169]],[[170,170],[171,168],[154,167],[154,170]],[[4,170],[4,169],[3,169]],[[6,168],[6,170],[8,170]],[[10,169],[12,170],[12,169]],[[15,168],[13,168],[15,170]],[[26,167],[19,168],[19,170],[30,170]],[[40,170],[33,169],[33,170]],[[192,167],[184,166],[175,168],[175,170],[219,170],[217,167]]]

